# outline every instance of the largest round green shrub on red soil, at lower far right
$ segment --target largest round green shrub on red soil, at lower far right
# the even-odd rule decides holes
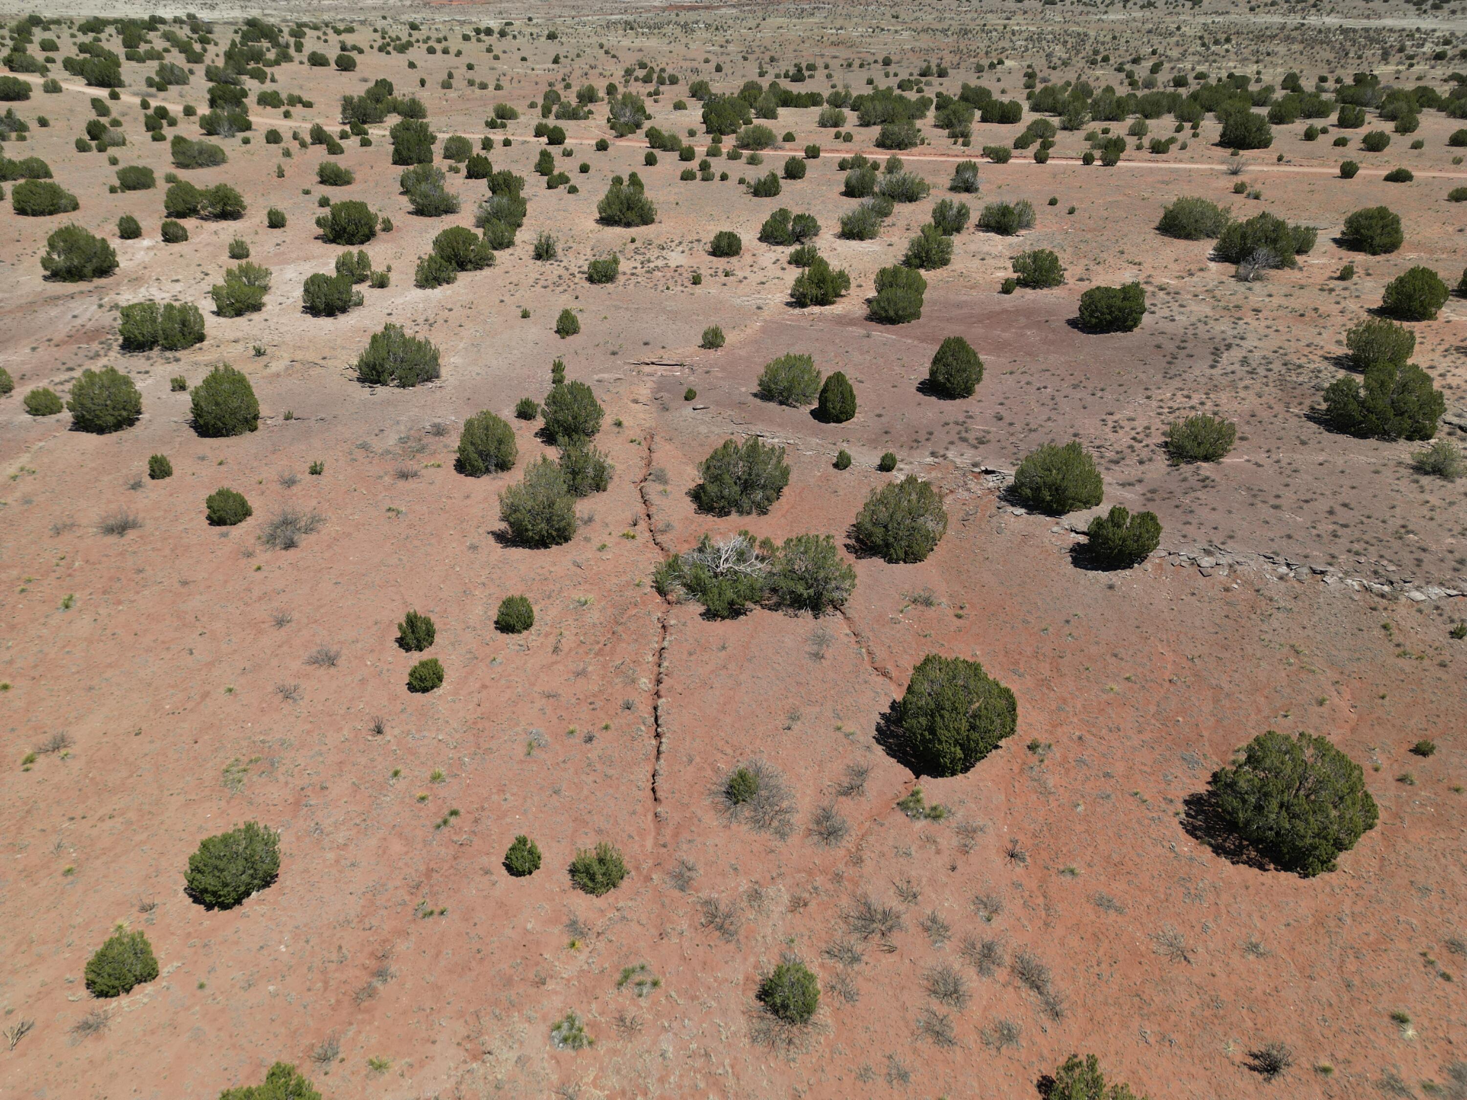
[[[1260,733],[1213,774],[1212,793],[1243,839],[1306,877],[1335,870],[1379,815],[1360,766],[1311,733]]]

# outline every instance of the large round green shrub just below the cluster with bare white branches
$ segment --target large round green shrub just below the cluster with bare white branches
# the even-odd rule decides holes
[[[896,717],[896,748],[914,771],[959,776],[1014,733],[1018,704],[978,661],[927,654],[912,669]]]

